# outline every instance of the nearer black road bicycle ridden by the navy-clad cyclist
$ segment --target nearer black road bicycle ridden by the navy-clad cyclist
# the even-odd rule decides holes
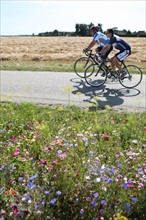
[[[132,89],[138,86],[142,81],[142,71],[136,65],[126,65],[124,61],[121,61],[121,67],[126,72],[124,78],[121,78],[119,71],[111,72],[110,68],[106,65],[110,62],[110,59],[103,59],[99,64],[92,63],[85,69],[84,78],[90,86],[100,87],[108,78],[116,79],[125,88]]]

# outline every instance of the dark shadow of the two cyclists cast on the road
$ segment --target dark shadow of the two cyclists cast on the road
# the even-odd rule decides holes
[[[108,88],[106,84],[96,88],[86,84],[84,79],[73,78],[70,80],[73,83],[74,90],[72,94],[84,94],[84,102],[89,103],[98,108],[104,109],[106,106],[121,106],[124,104],[124,97],[133,97],[140,94],[138,89],[126,89],[124,87],[120,89]],[[114,87],[114,85],[112,85]],[[118,86],[121,86],[120,84]]]

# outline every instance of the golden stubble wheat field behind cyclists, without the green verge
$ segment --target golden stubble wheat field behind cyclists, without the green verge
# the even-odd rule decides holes
[[[132,47],[130,63],[146,64],[146,38],[123,38]],[[72,62],[83,55],[92,37],[1,37],[1,63],[5,61]],[[93,48],[94,50],[94,48]],[[110,54],[112,56],[116,50]]]

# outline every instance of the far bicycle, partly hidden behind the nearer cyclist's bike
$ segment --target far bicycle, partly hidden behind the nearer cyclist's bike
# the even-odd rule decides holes
[[[84,73],[87,67],[91,67],[92,64],[99,65],[99,60],[96,60],[95,54],[92,53],[92,50],[84,51],[86,56],[82,56],[75,61],[74,71],[80,78],[84,78]],[[90,69],[91,71],[91,69]],[[94,66],[92,72],[94,71]],[[92,74],[91,72],[91,74]]]

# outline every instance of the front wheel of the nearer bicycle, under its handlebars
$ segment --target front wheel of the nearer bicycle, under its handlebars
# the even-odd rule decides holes
[[[97,64],[91,64],[85,70],[85,80],[90,86],[102,86],[105,83],[106,79],[106,70],[102,67],[99,67]]]

